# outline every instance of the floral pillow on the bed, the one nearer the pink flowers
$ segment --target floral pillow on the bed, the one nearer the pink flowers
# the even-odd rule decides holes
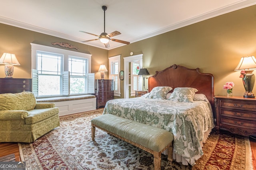
[[[177,87],[173,90],[170,98],[167,100],[175,102],[194,102],[194,95],[198,92],[196,88],[191,87]]]

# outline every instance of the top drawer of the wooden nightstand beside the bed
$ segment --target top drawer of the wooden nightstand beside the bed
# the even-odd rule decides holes
[[[221,101],[222,108],[234,108],[234,109],[253,109],[256,110],[256,104],[245,103],[245,102],[229,102]]]

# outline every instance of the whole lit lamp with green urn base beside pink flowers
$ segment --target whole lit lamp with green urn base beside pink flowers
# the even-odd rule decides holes
[[[244,84],[245,93],[244,98],[255,98],[252,93],[252,89],[254,87],[255,76],[252,73],[256,69],[256,59],[254,56],[250,57],[242,57],[240,62],[235,68],[235,71],[241,70],[240,78],[242,78],[242,82]]]

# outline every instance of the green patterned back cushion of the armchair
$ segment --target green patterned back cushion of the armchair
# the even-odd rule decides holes
[[[0,95],[0,110],[32,110],[36,98],[32,92],[6,93]]]

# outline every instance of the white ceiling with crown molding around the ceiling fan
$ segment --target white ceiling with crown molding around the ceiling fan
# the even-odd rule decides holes
[[[0,23],[81,42],[104,32],[134,43],[198,21],[256,4],[256,0],[4,0]],[[85,44],[103,48],[99,41]],[[122,43],[110,41],[110,48]]]

